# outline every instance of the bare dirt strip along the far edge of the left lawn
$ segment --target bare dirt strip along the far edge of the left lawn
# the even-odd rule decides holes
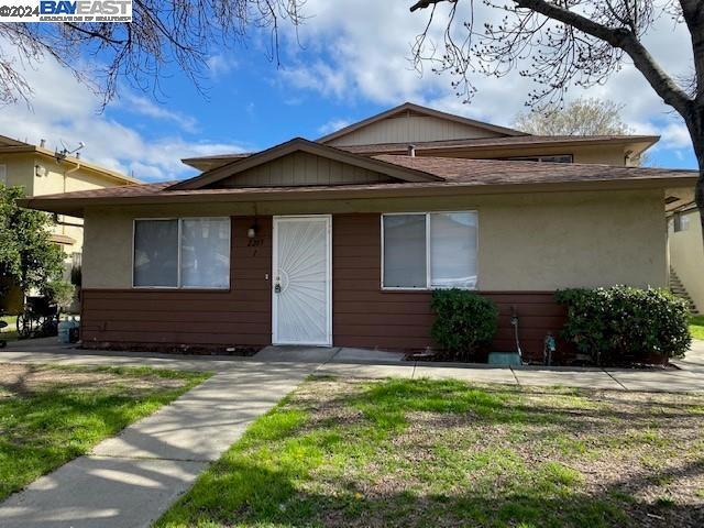
[[[125,376],[107,371],[0,363],[0,397],[56,388],[105,389],[118,385],[127,387],[130,393],[140,393],[156,388],[178,388],[184,384],[184,380],[158,376]]]

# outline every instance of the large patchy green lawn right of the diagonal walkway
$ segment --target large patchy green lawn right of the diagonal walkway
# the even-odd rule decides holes
[[[312,378],[156,526],[703,526],[703,404]]]

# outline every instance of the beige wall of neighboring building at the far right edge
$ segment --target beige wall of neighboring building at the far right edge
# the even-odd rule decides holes
[[[696,308],[704,310],[704,245],[702,244],[702,223],[698,212],[686,213],[689,228],[674,232],[672,222],[670,234],[670,265],[682,280]]]

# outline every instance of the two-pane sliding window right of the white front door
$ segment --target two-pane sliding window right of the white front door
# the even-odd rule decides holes
[[[382,286],[476,287],[477,217],[473,211],[382,217]]]

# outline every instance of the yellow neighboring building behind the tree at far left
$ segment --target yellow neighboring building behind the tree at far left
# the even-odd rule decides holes
[[[85,162],[78,155],[63,155],[40,145],[0,135],[0,184],[21,186],[26,196],[53,195],[74,190],[139,184],[138,179],[99,165]],[[66,276],[79,266],[82,254],[82,219],[55,216],[56,227],[52,240],[66,253]],[[16,311],[21,307],[21,293],[12,290],[0,299],[0,308]]]

